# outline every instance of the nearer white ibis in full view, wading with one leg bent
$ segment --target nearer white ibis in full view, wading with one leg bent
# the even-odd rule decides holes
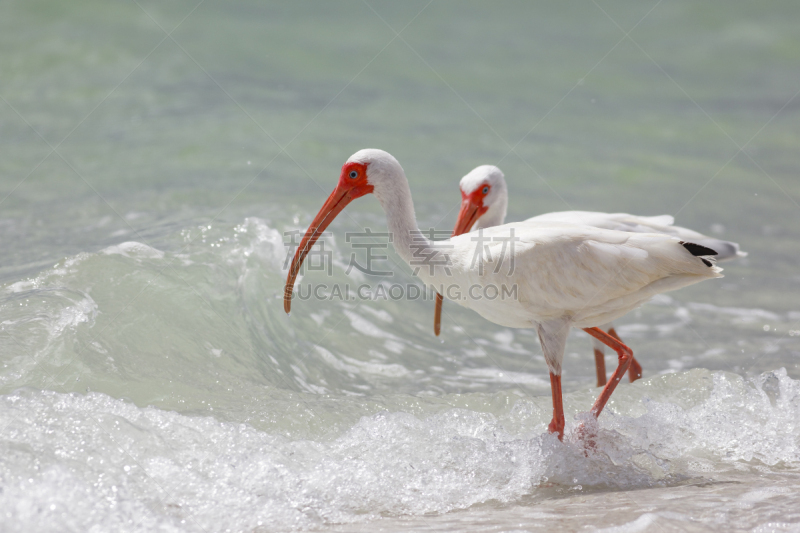
[[[411,190],[400,163],[383,150],[360,150],[342,166],[339,182],[295,252],[284,289],[292,304],[295,279],[311,246],[351,201],[374,193],[386,212],[397,254],[449,299],[505,327],[539,335],[553,393],[550,432],[564,436],[561,362],[570,327],[582,328],[619,355],[619,365],[591,408],[597,417],[633,353],[597,326],[655,294],[721,277],[714,250],[663,234],[629,233],[575,224],[505,224],[446,241],[430,241],[417,227]],[[500,267],[500,268],[498,268]],[[501,289],[501,287],[503,289]],[[452,290],[451,290],[452,289]],[[509,297],[490,297],[507,289]]]

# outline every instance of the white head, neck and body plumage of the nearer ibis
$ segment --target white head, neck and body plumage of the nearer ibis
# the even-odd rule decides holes
[[[704,265],[675,237],[561,222],[505,224],[483,230],[483,241],[472,233],[434,243],[417,227],[408,180],[394,157],[368,149],[350,161],[367,165],[395,249],[406,262],[414,267],[419,257],[446,255],[447,265],[426,265],[418,276],[434,288],[455,287],[442,293],[452,297],[457,292],[457,303],[503,326],[529,328],[553,320],[597,326],[659,292],[720,276],[719,268]],[[519,239],[513,246],[508,242],[512,237]],[[481,262],[485,268],[479,268]],[[516,297],[473,298],[469,292],[475,287],[479,292],[502,290],[503,285],[508,290],[516,286]]]

